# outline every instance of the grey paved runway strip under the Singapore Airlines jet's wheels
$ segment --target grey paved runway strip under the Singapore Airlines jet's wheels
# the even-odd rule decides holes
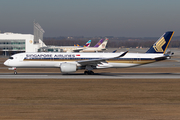
[[[178,79],[180,73],[96,73],[84,75],[82,73],[12,73],[0,74],[0,79]]]

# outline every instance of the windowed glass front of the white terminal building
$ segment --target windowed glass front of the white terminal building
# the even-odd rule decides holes
[[[25,40],[0,40],[2,51],[25,51]]]

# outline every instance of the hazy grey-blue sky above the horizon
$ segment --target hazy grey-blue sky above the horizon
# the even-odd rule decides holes
[[[180,36],[180,0],[1,0],[0,31],[46,37]]]

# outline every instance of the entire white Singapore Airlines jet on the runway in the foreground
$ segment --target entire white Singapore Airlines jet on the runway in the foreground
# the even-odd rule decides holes
[[[164,33],[146,53],[18,53],[9,57],[4,65],[16,68],[60,68],[62,73],[84,69],[84,74],[94,74],[93,69],[124,68],[165,60],[165,54],[174,31]]]

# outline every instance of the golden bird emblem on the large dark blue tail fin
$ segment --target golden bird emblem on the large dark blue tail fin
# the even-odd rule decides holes
[[[163,52],[163,45],[166,43],[164,37],[162,37],[157,43],[153,45],[153,48],[156,52]]]

